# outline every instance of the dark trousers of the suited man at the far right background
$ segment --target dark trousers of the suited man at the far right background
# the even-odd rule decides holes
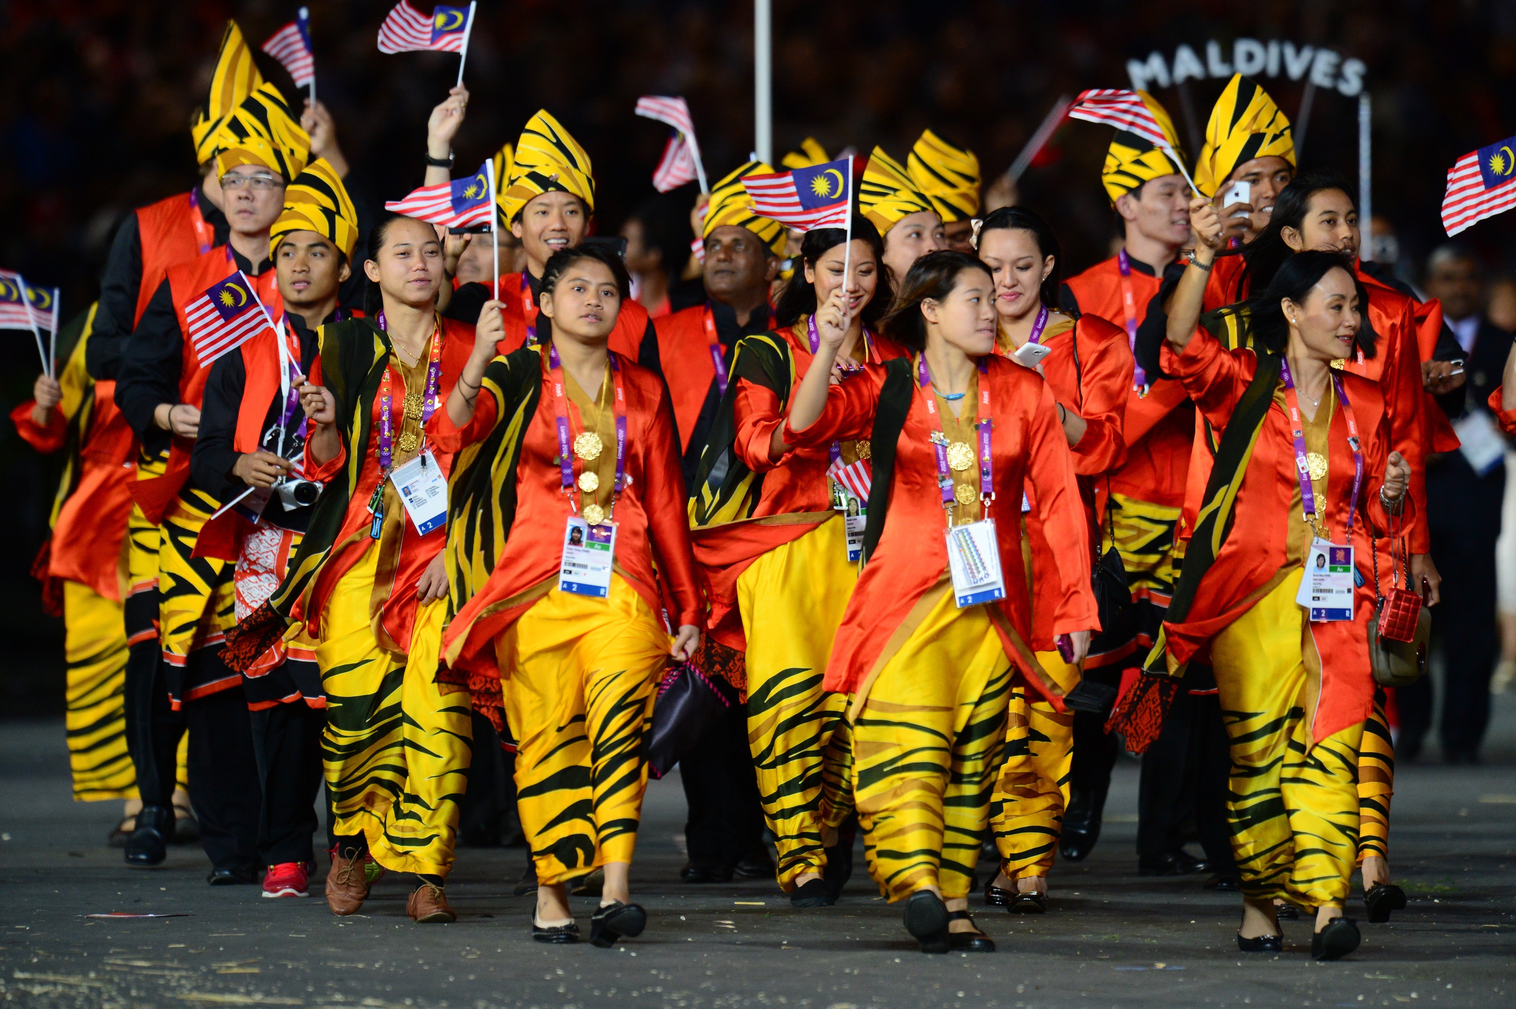
[[[1431,611],[1442,648],[1440,739],[1449,759],[1475,758],[1490,723],[1490,674],[1499,656],[1495,617],[1495,539],[1501,535],[1505,465],[1478,476],[1458,451],[1427,470],[1431,556],[1442,574],[1442,601]],[[1396,750],[1414,759],[1431,729],[1433,686],[1424,677],[1396,691]]]

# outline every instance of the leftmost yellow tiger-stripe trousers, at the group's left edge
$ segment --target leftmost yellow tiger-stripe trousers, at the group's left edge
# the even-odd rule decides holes
[[[136,797],[126,750],[126,654],[121,603],[64,582],[64,724],[77,801]]]

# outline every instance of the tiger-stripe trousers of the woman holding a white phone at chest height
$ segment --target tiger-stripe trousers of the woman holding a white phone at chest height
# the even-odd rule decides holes
[[[1064,692],[1079,683],[1079,668],[1057,651],[1037,661]],[[1063,812],[1069,808],[1073,762],[1073,712],[1060,712],[1025,683],[1011,688],[1005,720],[1005,764],[990,801],[990,830],[1008,879],[1046,876],[1052,868]]]

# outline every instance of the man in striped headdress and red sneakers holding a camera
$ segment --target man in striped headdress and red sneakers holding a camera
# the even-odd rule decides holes
[[[235,562],[236,621],[283,579],[321,492],[300,479],[305,411],[294,392],[320,353],[318,327],[338,321],[358,220],[341,180],[315,161],[285,189],[268,245],[283,303],[264,329],[211,367],[191,456],[197,485],[227,504],[197,553]],[[311,647],[277,642],[243,673],[262,803],[258,857],[265,897],[305,897],[314,865],[312,812],[321,782],[326,695]]]

